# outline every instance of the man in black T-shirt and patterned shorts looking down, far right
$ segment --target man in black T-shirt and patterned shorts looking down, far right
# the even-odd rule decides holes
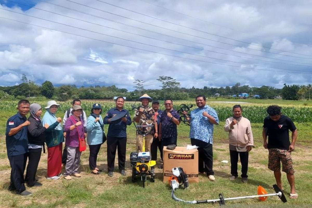
[[[295,149],[297,139],[297,129],[293,121],[281,114],[280,107],[271,105],[266,112],[269,114],[263,122],[263,146],[269,149],[268,168],[274,171],[277,186],[283,190],[281,182],[280,161],[282,171],[286,172],[287,180],[290,184],[290,198],[296,199],[298,194],[295,191],[295,176],[292,167],[291,152]],[[289,130],[291,133],[291,143],[289,141]],[[268,142],[266,142],[266,138]]]

